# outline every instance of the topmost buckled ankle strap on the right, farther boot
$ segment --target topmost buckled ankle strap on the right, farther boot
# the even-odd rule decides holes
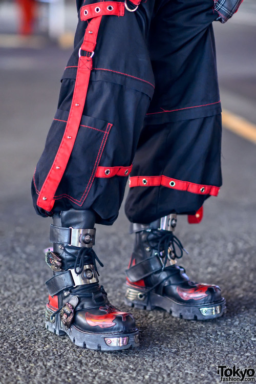
[[[164,216],[158,220],[153,221],[150,224],[131,223],[130,233],[150,231],[151,229],[159,229],[173,232],[177,224],[177,215],[170,214]]]

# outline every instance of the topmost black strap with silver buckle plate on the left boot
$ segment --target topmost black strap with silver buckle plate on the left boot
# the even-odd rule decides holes
[[[50,225],[50,242],[54,244],[72,245],[74,247],[92,248],[95,244],[96,229],[63,228]]]

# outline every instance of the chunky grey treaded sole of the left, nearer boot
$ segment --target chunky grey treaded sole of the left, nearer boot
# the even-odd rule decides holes
[[[54,312],[46,308],[46,328],[48,331],[56,333],[59,336],[68,335],[72,343],[78,347],[94,349],[98,351],[120,351],[130,347],[139,346],[139,332],[130,333],[105,333],[95,334],[83,332],[71,325],[69,329],[63,326],[59,314],[51,319]]]

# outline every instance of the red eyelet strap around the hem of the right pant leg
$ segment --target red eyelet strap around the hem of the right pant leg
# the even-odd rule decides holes
[[[133,176],[129,180],[130,187],[151,187],[163,185],[168,188],[187,190],[193,194],[218,196],[220,187],[214,185],[200,185],[172,179],[167,176]]]

